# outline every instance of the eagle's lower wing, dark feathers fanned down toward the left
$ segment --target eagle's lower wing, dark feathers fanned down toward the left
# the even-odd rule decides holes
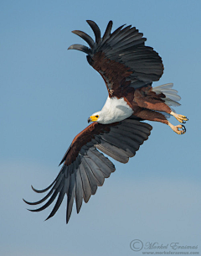
[[[136,154],[151,130],[151,125],[137,121],[137,118],[128,118],[111,124],[91,123],[70,144],[60,163],[64,165],[53,183],[41,191],[32,187],[37,193],[49,192],[43,199],[36,202],[24,200],[28,205],[34,206],[48,201],[38,209],[29,211],[44,210],[59,195],[47,218],[49,219],[57,212],[66,194],[66,222],[69,222],[74,199],[78,213],[83,199],[85,202],[89,201],[90,196],[95,194],[97,186],[103,185],[105,178],[115,171],[115,165],[99,150],[121,163],[126,163]]]

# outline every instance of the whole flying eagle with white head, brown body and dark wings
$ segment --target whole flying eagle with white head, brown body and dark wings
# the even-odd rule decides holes
[[[180,105],[178,91],[172,89],[172,83],[152,87],[152,81],[162,76],[162,59],[152,47],[145,45],[146,38],[138,29],[122,25],[111,33],[110,21],[101,37],[98,25],[91,20],[87,23],[95,34],[95,41],[85,32],[74,30],[72,32],[84,39],[89,47],[73,44],[69,50],[83,51],[89,64],[101,74],[108,91],[106,103],[101,111],[88,118],[88,123],[92,123],[74,138],[52,184],[44,190],[32,186],[33,191],[47,192],[47,195],[36,202],[25,201],[35,206],[47,200],[38,209],[29,210],[39,212],[58,196],[49,219],[66,194],[66,222],[69,222],[74,199],[79,213],[83,199],[88,202],[97,186],[103,185],[105,178],[116,170],[105,154],[125,164],[147,140],[152,126],[143,120],[168,124],[178,134],[185,133],[185,127],[182,124],[173,126],[168,116],[172,115],[180,123],[188,120],[171,108]]]

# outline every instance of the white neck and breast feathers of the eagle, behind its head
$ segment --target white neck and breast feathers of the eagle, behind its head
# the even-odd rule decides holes
[[[100,123],[115,123],[129,118],[133,113],[131,107],[127,104],[123,97],[108,97],[106,104],[101,110],[102,120]]]

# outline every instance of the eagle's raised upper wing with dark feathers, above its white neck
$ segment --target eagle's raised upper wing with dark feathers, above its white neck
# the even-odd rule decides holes
[[[80,30],[72,31],[89,44],[73,44],[69,47],[87,54],[90,65],[98,71],[106,82],[109,97],[124,97],[131,88],[152,85],[163,73],[162,59],[151,47],[145,46],[147,40],[143,34],[131,26],[124,25],[111,34],[112,21],[101,37],[101,30],[91,20],[87,20],[95,34],[95,41],[90,35]]]

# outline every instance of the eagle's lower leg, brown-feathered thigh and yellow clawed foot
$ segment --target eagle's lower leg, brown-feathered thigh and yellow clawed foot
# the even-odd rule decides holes
[[[170,128],[173,129],[175,133],[178,134],[184,134],[186,132],[186,128],[182,124],[174,126],[167,120],[167,118],[164,115],[162,115],[161,112],[155,112],[150,109],[136,107],[133,115],[135,115],[137,118],[142,118],[144,120],[166,123]]]

